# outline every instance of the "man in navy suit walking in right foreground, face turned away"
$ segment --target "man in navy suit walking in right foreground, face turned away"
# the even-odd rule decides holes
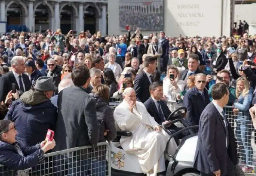
[[[238,160],[231,151],[236,149],[229,147],[235,139],[230,135],[234,132],[223,111],[229,99],[225,83],[213,86],[212,99],[200,116],[194,167],[202,176],[234,176]]]

